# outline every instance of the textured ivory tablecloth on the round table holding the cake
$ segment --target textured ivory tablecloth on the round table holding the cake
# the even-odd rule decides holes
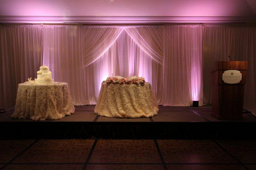
[[[35,121],[61,119],[75,112],[67,83],[19,84],[12,118]]]

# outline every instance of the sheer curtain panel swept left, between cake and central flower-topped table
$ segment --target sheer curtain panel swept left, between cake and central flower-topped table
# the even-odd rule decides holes
[[[93,76],[89,66],[104,54],[122,28],[99,26],[44,26],[43,64],[55,81],[67,82],[75,105],[96,104]]]

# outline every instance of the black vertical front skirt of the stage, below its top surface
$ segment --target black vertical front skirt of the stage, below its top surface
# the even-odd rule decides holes
[[[1,139],[256,139],[255,122],[2,122]]]

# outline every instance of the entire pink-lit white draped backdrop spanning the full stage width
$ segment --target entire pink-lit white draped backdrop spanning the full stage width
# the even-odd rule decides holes
[[[17,84],[48,65],[67,82],[75,105],[96,104],[102,80],[145,77],[159,104],[211,103],[214,61],[248,61],[244,108],[256,112],[256,27],[0,26],[0,108],[15,104]]]

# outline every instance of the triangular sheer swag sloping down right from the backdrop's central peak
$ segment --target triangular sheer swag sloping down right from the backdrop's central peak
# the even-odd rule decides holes
[[[125,31],[151,58],[163,65],[163,26],[131,27]]]

